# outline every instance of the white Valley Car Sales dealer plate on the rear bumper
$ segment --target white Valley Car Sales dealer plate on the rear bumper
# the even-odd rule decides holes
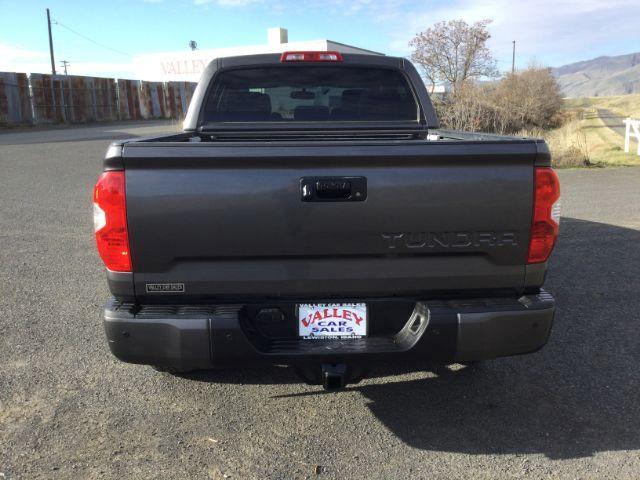
[[[298,305],[298,334],[305,340],[366,337],[367,304],[300,304]]]

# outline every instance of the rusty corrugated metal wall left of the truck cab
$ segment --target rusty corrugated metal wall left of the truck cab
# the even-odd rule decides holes
[[[0,72],[0,126],[185,116],[196,84]]]

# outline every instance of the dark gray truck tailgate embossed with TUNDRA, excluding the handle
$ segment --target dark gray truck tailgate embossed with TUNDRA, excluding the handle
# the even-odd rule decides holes
[[[536,144],[469,144],[126,144],[136,296],[520,290]],[[303,177],[350,176],[365,201],[302,200]]]

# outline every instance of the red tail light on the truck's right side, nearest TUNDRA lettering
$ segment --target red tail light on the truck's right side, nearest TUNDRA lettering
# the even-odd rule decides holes
[[[527,263],[545,262],[558,238],[560,225],[560,181],[549,167],[535,169],[533,223]]]

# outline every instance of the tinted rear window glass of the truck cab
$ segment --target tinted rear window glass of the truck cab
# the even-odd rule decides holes
[[[408,122],[418,120],[411,87],[398,70],[279,65],[218,73],[205,123]]]

